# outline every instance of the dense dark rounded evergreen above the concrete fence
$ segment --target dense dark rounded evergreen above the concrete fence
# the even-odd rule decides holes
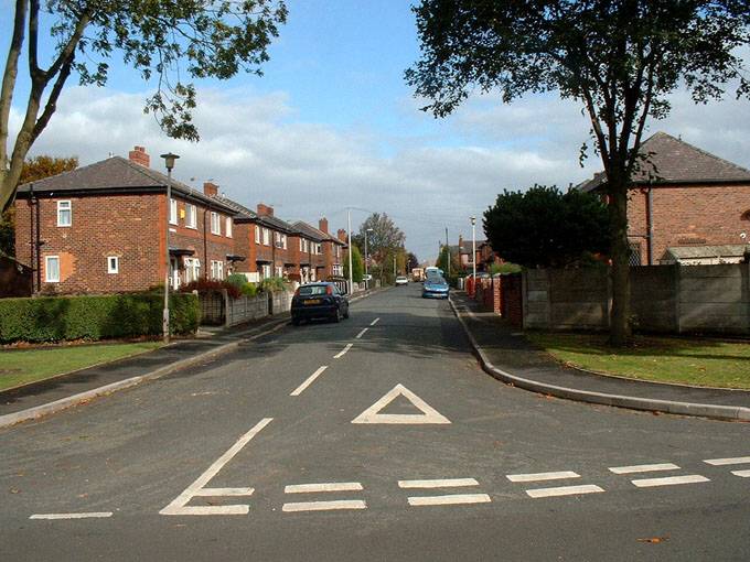
[[[527,268],[565,267],[585,253],[607,253],[607,205],[591,193],[534,186],[497,195],[484,212],[484,234],[504,259]]]

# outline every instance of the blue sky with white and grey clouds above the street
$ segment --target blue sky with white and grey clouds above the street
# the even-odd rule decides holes
[[[151,154],[180,154],[174,175],[201,188],[212,180],[226,196],[255,208],[333,231],[354,230],[372,212],[387,213],[420,260],[459,235],[484,237],[481,216],[504,190],[534,184],[567,187],[601,169],[594,154],[578,162],[589,123],[579,104],[556,94],[504,105],[494,94],[472,96],[452,116],[419,110],[404,71],[419,57],[410,2],[401,0],[292,0],[289,21],[270,48],[264,76],[203,80],[195,121],[197,143],[169,139],[143,100],[151,85],[111,60],[106,87],[71,80],[47,129],[30,155],[77,155],[81,164],[127,156],[133,145]],[[12,4],[0,0],[0,48],[7,50]],[[47,45],[49,46],[49,45]],[[22,116],[15,100],[11,132]],[[750,101],[731,96],[694,105],[685,91],[673,111],[651,122],[709,152],[750,167]]]

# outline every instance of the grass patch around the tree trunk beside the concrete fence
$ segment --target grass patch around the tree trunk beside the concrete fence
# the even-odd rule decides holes
[[[750,344],[714,339],[636,336],[617,349],[606,335],[528,333],[558,360],[622,377],[705,387],[750,389]]]

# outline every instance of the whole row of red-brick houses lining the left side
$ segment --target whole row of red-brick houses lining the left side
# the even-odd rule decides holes
[[[256,210],[218,193],[172,181],[150,167],[144,148],[19,187],[15,252],[33,270],[33,292],[108,293],[163,283],[169,229],[169,282],[244,273],[297,281],[343,274],[346,236],[288,223],[274,208]]]

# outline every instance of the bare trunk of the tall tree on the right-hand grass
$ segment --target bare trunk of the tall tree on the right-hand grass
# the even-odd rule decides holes
[[[614,174],[611,174],[614,175]],[[618,174],[619,175],[619,174]],[[628,182],[608,177],[609,213],[612,221],[612,310],[610,312],[610,345],[624,346],[631,341],[630,324],[630,244],[628,241]]]

